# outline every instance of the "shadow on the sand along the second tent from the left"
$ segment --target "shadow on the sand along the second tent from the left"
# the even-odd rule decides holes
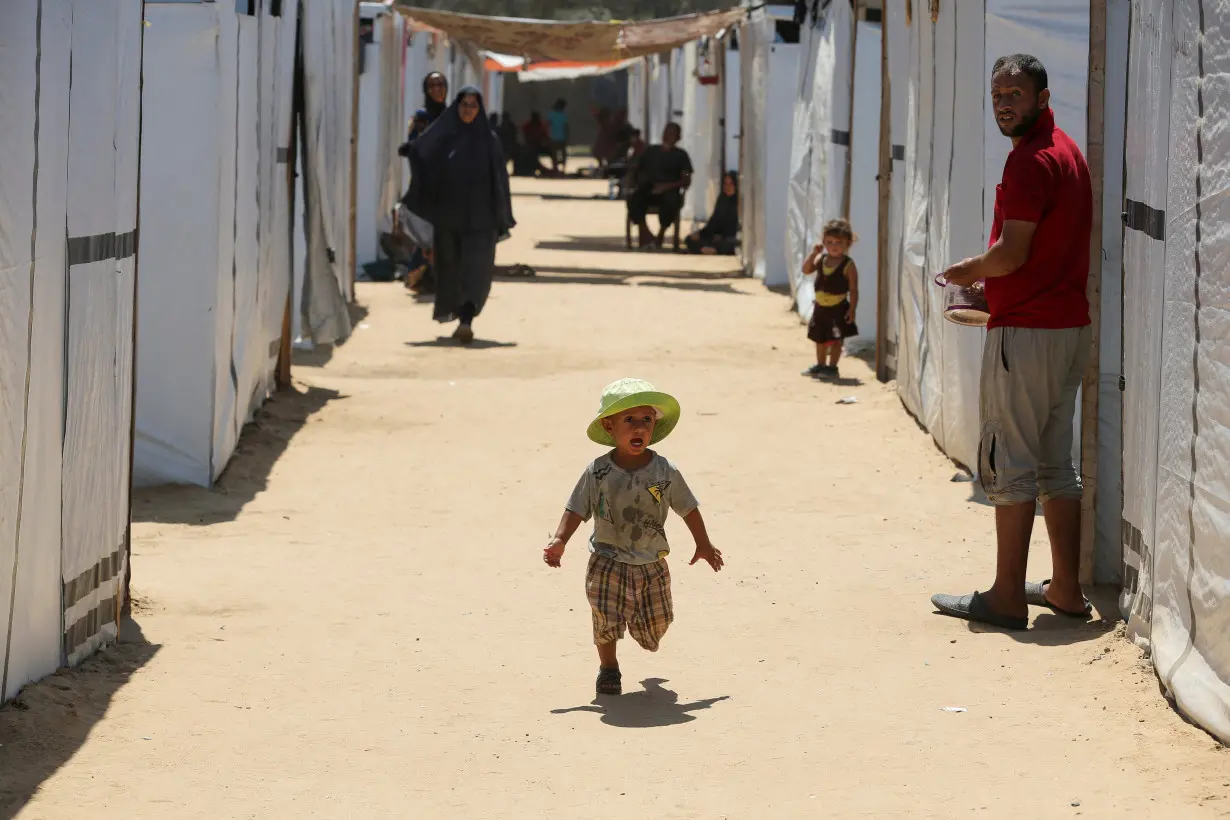
[[[269,473],[290,439],[331,401],[346,398],[336,390],[308,387],[274,393],[244,427],[239,446],[212,489],[171,484],[133,491],[133,521],[208,526],[232,521],[264,491]]]

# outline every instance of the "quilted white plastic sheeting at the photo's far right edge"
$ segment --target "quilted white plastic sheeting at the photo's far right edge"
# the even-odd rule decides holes
[[[1230,150],[1209,116],[1230,21],[1202,5],[1132,15],[1122,602],[1178,708],[1230,743]]]

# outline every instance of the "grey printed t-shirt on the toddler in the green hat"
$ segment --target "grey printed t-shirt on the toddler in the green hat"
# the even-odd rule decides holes
[[[652,564],[670,552],[667,511],[685,516],[696,507],[683,475],[658,454],[635,472],[619,468],[606,454],[585,467],[565,509],[585,521],[594,519],[590,552],[626,564]]]

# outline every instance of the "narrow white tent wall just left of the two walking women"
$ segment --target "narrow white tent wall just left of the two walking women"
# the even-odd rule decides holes
[[[364,2],[360,18],[371,38],[360,43],[359,151],[355,213],[355,264],[380,258],[380,234],[392,230],[392,209],[405,191],[406,160],[397,146],[406,139],[406,20],[383,2]],[[413,113],[413,109],[411,111]]]

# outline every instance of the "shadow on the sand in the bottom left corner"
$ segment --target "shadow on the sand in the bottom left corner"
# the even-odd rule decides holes
[[[31,684],[0,707],[0,816],[15,816],[80,751],[116,693],[159,649],[124,618],[119,643]]]

